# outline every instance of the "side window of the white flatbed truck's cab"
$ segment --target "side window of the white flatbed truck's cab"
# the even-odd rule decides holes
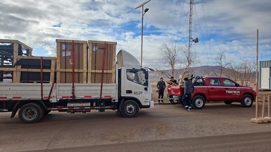
[[[127,79],[135,83],[147,86],[145,71],[139,69],[127,69]]]

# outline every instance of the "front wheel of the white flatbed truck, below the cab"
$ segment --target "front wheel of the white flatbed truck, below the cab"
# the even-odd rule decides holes
[[[126,118],[136,117],[139,112],[139,106],[136,101],[128,100],[121,105],[121,114]]]

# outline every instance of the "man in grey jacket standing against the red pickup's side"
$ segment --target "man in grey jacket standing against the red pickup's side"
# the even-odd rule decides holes
[[[185,106],[185,111],[192,111],[191,94],[195,91],[195,87],[187,77],[184,79],[184,94],[182,96],[182,102]]]

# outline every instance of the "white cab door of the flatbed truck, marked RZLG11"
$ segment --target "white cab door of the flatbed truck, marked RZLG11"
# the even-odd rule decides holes
[[[148,74],[146,74],[145,69],[126,69],[126,76],[124,80],[124,96],[134,97],[141,101],[142,105],[150,105],[151,100],[151,90],[148,85]]]

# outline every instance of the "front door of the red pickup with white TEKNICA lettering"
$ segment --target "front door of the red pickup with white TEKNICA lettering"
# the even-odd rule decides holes
[[[236,83],[230,79],[223,78],[224,93],[226,101],[240,100],[241,89],[236,86]]]

